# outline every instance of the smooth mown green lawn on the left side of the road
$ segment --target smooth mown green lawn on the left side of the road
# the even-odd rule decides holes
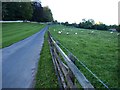
[[[45,25],[37,23],[2,23],[2,48],[40,31]]]

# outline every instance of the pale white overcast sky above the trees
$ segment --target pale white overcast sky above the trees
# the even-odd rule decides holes
[[[59,22],[79,23],[83,18],[94,19],[107,25],[118,24],[120,0],[40,0],[49,6],[53,18]]]

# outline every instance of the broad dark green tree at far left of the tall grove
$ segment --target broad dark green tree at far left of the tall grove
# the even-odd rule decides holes
[[[31,2],[2,2],[2,20],[29,20],[32,17]]]

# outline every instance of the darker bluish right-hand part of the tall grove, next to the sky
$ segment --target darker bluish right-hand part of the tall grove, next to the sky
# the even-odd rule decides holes
[[[32,21],[37,22],[51,22],[53,21],[52,12],[49,7],[42,7],[40,2],[33,2]]]

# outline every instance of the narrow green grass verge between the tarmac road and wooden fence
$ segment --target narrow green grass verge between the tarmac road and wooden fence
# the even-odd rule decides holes
[[[57,77],[47,41],[47,33],[45,34],[44,45],[38,63],[35,88],[58,88]]]

